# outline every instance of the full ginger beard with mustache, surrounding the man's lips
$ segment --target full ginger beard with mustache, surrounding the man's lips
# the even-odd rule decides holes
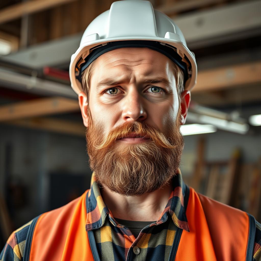
[[[88,110],[87,152],[98,184],[124,196],[140,196],[165,186],[177,173],[184,147],[180,115],[181,110],[175,124],[166,124],[166,134],[145,121],[135,121],[117,126],[104,137],[103,124],[94,121]],[[132,132],[151,139],[138,144],[119,142]]]

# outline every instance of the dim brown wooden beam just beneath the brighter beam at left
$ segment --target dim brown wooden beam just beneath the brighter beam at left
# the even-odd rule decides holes
[[[54,119],[54,118],[29,118],[5,122],[10,125],[50,131],[55,133],[69,134],[85,137],[86,127],[83,123]]]

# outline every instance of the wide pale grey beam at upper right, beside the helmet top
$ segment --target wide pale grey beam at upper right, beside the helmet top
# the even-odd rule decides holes
[[[195,43],[202,41],[201,46],[205,47],[207,41],[212,44],[244,39],[255,30],[255,34],[260,35],[260,9],[261,1],[239,1],[171,18],[182,31],[189,48],[195,48]]]

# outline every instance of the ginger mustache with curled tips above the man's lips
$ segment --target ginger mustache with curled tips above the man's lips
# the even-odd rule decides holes
[[[176,130],[177,131],[177,130]],[[179,128],[178,128],[179,131]],[[113,143],[116,142],[116,140],[120,138],[127,137],[131,133],[137,133],[140,137],[149,137],[151,141],[154,142],[158,147],[166,148],[166,149],[176,149],[177,144],[175,144],[173,138],[166,137],[164,133],[159,131],[156,127],[148,125],[146,122],[124,122],[123,124],[115,127],[112,129],[107,137],[100,143],[99,145],[94,145],[95,149],[105,149],[110,146],[112,146]],[[171,134],[175,132],[175,128],[171,128],[171,131],[168,132]]]

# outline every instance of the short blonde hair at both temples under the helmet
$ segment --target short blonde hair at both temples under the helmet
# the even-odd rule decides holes
[[[82,73],[82,90],[84,91],[84,93],[87,95],[87,100],[89,102],[89,95],[88,93],[90,92],[90,79],[91,79],[91,74],[93,72],[93,68],[94,68],[94,64],[95,64],[94,60],[86,69],[85,71]],[[174,75],[175,75],[175,79],[176,79],[176,84],[177,84],[177,91],[178,91],[178,95],[179,98],[181,96],[181,93],[184,91],[184,74],[182,72],[182,70],[180,69],[179,66],[177,66],[176,63],[172,62],[172,66],[171,66]]]

